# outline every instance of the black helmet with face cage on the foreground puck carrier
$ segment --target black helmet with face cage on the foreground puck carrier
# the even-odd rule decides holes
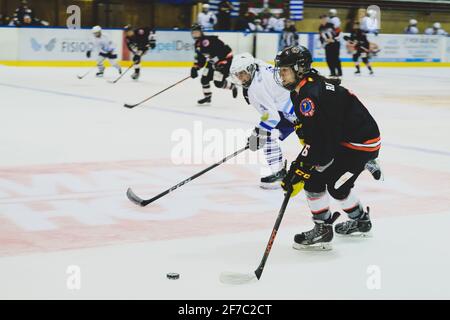
[[[284,48],[275,57],[275,81],[282,87],[292,91],[298,83],[311,72],[312,55],[311,52],[303,46],[290,46]],[[280,77],[280,68],[290,67],[294,71],[295,81],[289,84],[283,84]]]

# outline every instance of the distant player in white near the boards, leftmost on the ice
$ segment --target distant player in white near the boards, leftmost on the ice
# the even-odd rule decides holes
[[[98,72],[97,77],[103,77],[103,73],[105,71],[104,62],[106,59],[109,60],[111,65],[119,71],[119,74],[122,73],[122,69],[117,63],[117,54],[115,53],[115,46],[113,42],[109,39],[109,37],[102,32],[102,28],[100,26],[95,26],[92,28],[92,33],[94,35],[94,48],[93,51],[98,52],[97,57],[97,66]],[[86,51],[86,56],[88,58],[91,57],[92,51]]]

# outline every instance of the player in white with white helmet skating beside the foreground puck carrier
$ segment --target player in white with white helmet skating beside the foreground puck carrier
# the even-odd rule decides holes
[[[273,67],[250,53],[236,55],[230,72],[234,82],[243,87],[247,103],[261,114],[248,141],[252,151],[263,148],[272,170],[271,175],[261,178],[261,188],[279,188],[286,169],[278,140],[283,141],[294,131],[297,119],[289,92],[274,81]]]

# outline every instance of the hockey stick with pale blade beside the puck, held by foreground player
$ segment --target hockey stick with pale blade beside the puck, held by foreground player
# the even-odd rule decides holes
[[[275,241],[278,228],[280,227],[281,220],[283,219],[284,212],[286,211],[286,207],[288,205],[290,198],[291,193],[287,192],[284,195],[284,200],[283,203],[281,204],[277,220],[275,221],[275,225],[272,229],[272,234],[270,235],[269,242],[267,243],[266,251],[264,251],[264,255],[261,259],[261,263],[259,264],[258,268],[256,268],[256,270],[253,273],[222,272],[220,274],[220,281],[222,283],[245,284],[255,280],[259,280],[261,278],[262,272],[264,271],[264,266],[266,265],[267,258],[269,257],[270,250],[272,249],[273,242]]]

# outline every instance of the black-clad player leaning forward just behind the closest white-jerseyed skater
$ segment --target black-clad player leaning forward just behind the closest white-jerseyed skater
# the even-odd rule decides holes
[[[198,77],[198,70],[204,67],[201,77],[204,98],[198,104],[211,102],[211,85],[214,81],[217,88],[232,90],[233,97],[237,97],[236,86],[227,81],[230,66],[233,60],[231,48],[223,43],[217,36],[207,36],[199,24],[192,25],[192,37],[195,40],[195,60],[191,68],[191,77]]]

